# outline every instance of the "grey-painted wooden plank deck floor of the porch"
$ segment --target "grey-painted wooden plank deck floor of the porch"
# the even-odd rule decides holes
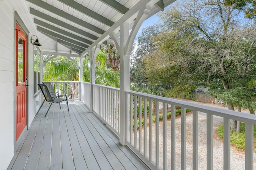
[[[69,101],[69,112],[44,106],[36,115],[24,143],[8,170],[132,170],[148,169],[80,101]]]

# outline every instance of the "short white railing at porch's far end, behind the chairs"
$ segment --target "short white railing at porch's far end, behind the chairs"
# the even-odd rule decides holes
[[[79,99],[79,84],[78,81],[68,81],[68,82],[51,82],[52,87],[55,92],[64,91],[68,96],[68,100],[78,100]]]

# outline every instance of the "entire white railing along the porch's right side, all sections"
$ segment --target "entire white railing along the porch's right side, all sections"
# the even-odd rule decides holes
[[[126,106],[126,122],[120,122],[118,119],[120,89],[98,84],[93,84],[91,87],[86,82],[81,82],[80,86],[81,100],[92,108],[93,112],[117,136],[120,135],[120,123],[126,125],[126,145],[152,169],[213,169],[216,164],[215,150],[213,149],[213,120],[215,117],[222,117],[224,123],[224,142],[221,146],[223,147],[223,157],[221,158],[223,169],[232,169],[230,119],[246,124],[245,158],[241,161],[244,161],[244,169],[255,168],[253,167],[255,115],[127,90],[125,93],[129,100],[126,101],[128,104]],[[175,114],[171,114],[170,119],[166,118],[169,114],[167,106],[171,108],[171,113],[175,113],[176,107],[180,107],[180,122],[176,121]],[[186,109],[192,109],[191,125],[190,122],[186,122]],[[161,114],[159,110],[162,110]],[[198,113],[205,115],[204,122],[198,118]],[[160,117],[162,120],[159,121]],[[202,123],[205,123],[203,129],[206,133],[206,143],[202,143],[201,139],[198,139],[200,131],[202,131],[198,127],[202,127]],[[188,125],[191,126],[191,139],[188,135]],[[177,131],[178,127],[180,129]],[[134,129],[137,130],[134,131]],[[192,145],[192,149],[188,149],[186,147],[188,145]],[[204,148],[205,154],[198,153],[202,148]],[[206,164],[205,167],[202,167],[202,162]]]

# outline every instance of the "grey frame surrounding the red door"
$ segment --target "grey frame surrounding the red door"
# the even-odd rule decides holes
[[[17,80],[17,75],[16,75],[16,23],[20,26],[20,28],[22,29],[22,31],[25,33],[26,35],[26,39],[27,39],[27,44],[26,44],[26,65],[27,65],[27,68],[26,68],[26,73],[27,73],[27,77],[29,75],[29,72],[28,72],[28,35],[29,35],[29,31],[27,29],[27,27],[25,26],[25,24],[23,23],[23,21],[21,20],[20,16],[18,15],[17,12],[14,12],[14,153],[16,152],[16,150],[18,149],[19,145],[21,144],[22,142],[22,139],[25,137],[26,135],[26,132],[28,130],[28,108],[29,108],[29,100],[28,100],[28,91],[29,91],[29,88],[27,88],[27,92],[26,92],[26,104],[27,104],[27,111],[26,111],[26,121],[27,121],[27,125],[26,127],[24,128],[24,130],[22,131],[22,133],[20,134],[20,137],[18,139],[16,139],[16,80]]]

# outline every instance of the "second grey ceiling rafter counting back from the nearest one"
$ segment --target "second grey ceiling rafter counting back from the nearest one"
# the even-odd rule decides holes
[[[82,6],[78,2],[75,2],[73,0],[58,0],[62,2],[63,4],[66,4],[67,6],[70,6],[71,8],[74,8],[75,10],[78,10],[79,12],[83,13],[84,15],[87,15],[94,20],[100,21],[101,23],[111,26],[114,24],[113,21],[108,20],[107,18],[101,16],[100,14],[86,8],[85,6]]]

